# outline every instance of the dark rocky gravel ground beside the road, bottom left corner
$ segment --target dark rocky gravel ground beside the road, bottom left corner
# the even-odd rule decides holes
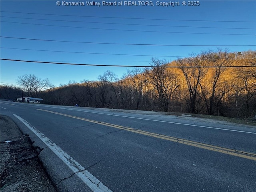
[[[57,192],[32,148],[8,116],[1,115],[1,192]]]

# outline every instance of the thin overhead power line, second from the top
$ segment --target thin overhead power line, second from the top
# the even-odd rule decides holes
[[[109,23],[109,22],[89,22],[89,21],[70,21],[70,20],[55,20],[55,19],[38,19],[38,18],[24,18],[24,17],[8,17],[2,18],[19,18],[19,19],[33,19],[33,20],[47,20],[47,21],[64,21],[64,22],[78,22],[78,23],[94,23],[94,24],[116,24],[116,25],[134,25],[134,26],[157,26],[157,27],[187,27],[187,28],[211,28],[211,29],[243,29],[256,30],[256,28],[230,28],[230,27],[199,27],[199,26],[175,26],[175,25],[150,25],[150,24],[124,24],[124,23]],[[3,22],[3,21],[2,21]]]

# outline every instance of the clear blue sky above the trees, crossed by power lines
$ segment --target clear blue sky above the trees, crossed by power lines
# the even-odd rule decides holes
[[[256,49],[256,1],[201,0],[199,6],[172,1],[179,6],[167,7],[157,1],[152,1],[152,6],[102,6],[102,1],[95,1],[100,6],[87,6],[89,1],[82,0],[60,0],[57,6],[56,2],[1,0],[2,59],[148,66],[155,56],[172,61],[208,49]],[[84,2],[84,6],[65,6],[62,2]],[[59,86],[69,81],[97,80],[106,70],[121,78],[127,69],[131,68],[1,60],[1,84],[16,84],[18,76],[34,74]]]

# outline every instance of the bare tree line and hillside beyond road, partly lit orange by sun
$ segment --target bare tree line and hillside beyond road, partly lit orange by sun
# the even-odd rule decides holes
[[[45,82],[38,89],[27,88],[27,94],[55,105],[78,103],[86,107],[236,118],[256,113],[256,52],[251,50],[238,53],[208,50],[172,62],[152,58],[150,67],[133,68],[120,79],[106,71],[97,81],[70,81],[56,88]],[[3,86],[1,98],[2,89]]]

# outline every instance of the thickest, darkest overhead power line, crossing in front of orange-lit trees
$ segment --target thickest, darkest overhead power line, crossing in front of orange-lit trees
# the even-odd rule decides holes
[[[181,66],[134,66],[134,65],[99,65],[99,64],[78,64],[78,63],[58,63],[58,62],[44,62],[44,61],[30,61],[30,60],[15,60],[15,59],[0,59],[7,61],[18,62],[32,62],[32,63],[46,63],[46,64],[63,64],[63,65],[82,65],[82,66],[106,66],[106,67],[143,67],[143,68],[181,68]],[[217,66],[218,68],[244,68],[256,66]],[[182,68],[197,68],[197,66],[182,66]],[[216,66],[200,66],[200,68],[216,68]]]

